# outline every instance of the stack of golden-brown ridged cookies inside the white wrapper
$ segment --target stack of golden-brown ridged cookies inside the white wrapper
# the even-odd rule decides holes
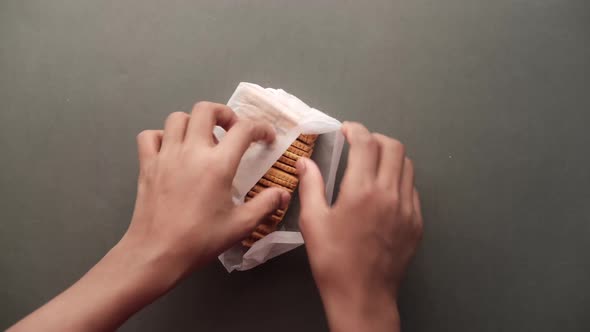
[[[300,157],[311,157],[316,139],[317,135],[300,135],[297,137],[279,160],[277,160],[268,172],[258,180],[258,183],[250,189],[246,196],[246,202],[269,187],[279,187],[292,194],[299,183],[295,163]],[[276,210],[272,215],[263,220],[248,238],[242,241],[242,245],[245,247],[251,247],[254,242],[274,232],[285,217],[285,213],[287,213],[287,209]]]

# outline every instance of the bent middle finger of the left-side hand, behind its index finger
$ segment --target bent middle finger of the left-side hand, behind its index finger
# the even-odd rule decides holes
[[[212,136],[213,128],[220,126],[229,130],[237,119],[236,113],[227,105],[199,102],[193,107],[186,141],[213,146],[215,145],[214,136]]]

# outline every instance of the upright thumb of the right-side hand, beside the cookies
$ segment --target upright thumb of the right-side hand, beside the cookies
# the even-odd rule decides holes
[[[301,213],[299,226],[305,237],[313,232],[312,228],[318,223],[314,222],[329,208],[326,202],[324,180],[318,166],[307,158],[299,158],[297,161],[297,175],[299,175],[299,201]]]

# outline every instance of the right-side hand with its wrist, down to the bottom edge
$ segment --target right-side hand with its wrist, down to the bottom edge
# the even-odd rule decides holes
[[[422,236],[414,168],[404,146],[358,123],[335,204],[315,163],[300,159],[300,228],[332,330],[399,328],[397,292]]]

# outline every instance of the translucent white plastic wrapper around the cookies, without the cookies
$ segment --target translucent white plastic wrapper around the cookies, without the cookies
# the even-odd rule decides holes
[[[277,132],[272,145],[253,143],[242,157],[233,182],[232,195],[236,204],[244,202],[248,191],[300,134],[320,134],[312,159],[322,172],[326,197],[329,202],[332,200],[344,144],[340,121],[307,106],[283,90],[265,89],[252,83],[240,83],[227,104],[238,117],[263,119],[270,122]],[[223,140],[224,135],[222,128],[215,128],[215,136],[219,141]],[[297,248],[303,244],[298,219],[299,202],[296,197],[292,197],[289,210],[277,231],[256,241],[248,250],[238,244],[222,253],[219,260],[228,272],[244,271]]]

